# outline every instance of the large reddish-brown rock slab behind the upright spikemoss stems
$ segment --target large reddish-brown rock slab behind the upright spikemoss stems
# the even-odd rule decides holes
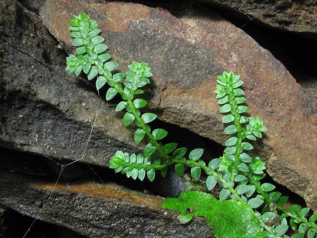
[[[317,210],[316,104],[252,38],[197,3],[180,9],[175,17],[166,10],[132,3],[87,8],[58,2],[47,1],[41,16],[60,42],[71,42],[64,34],[64,18],[84,11],[91,14],[115,61],[149,62],[154,73],[149,108],[159,113],[159,119],[222,144],[227,137],[214,97],[215,76],[223,70],[241,75],[250,116],[259,116],[268,128],[256,153],[273,179],[304,196]],[[52,12],[63,13],[63,18]]]

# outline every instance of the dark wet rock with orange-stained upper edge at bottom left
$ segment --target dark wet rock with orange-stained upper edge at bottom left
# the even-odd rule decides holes
[[[203,218],[186,225],[175,222],[177,212],[162,209],[162,201],[162,197],[111,182],[55,185],[54,181],[0,170],[1,204],[87,237],[214,237]]]

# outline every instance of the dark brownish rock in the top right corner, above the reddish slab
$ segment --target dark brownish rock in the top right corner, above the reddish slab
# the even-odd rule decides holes
[[[277,1],[235,1],[203,0],[220,11],[229,11],[246,21],[267,25],[272,28],[301,33],[317,39],[317,2],[315,0],[277,0]]]

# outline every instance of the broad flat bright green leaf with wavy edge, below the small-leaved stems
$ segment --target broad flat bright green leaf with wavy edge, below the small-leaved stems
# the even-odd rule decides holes
[[[162,206],[178,210],[181,223],[189,222],[193,216],[205,217],[217,238],[255,238],[263,231],[257,225],[254,211],[247,204],[217,200],[211,194],[199,191],[180,192],[178,198],[166,198]],[[191,212],[187,212],[188,209]]]

